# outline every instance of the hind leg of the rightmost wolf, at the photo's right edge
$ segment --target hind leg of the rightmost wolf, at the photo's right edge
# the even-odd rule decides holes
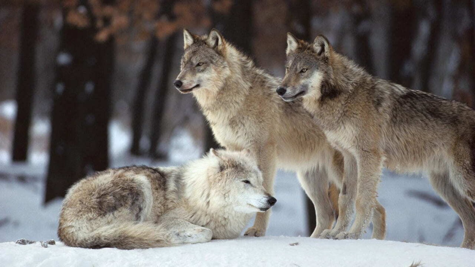
[[[450,173],[450,175],[455,174]],[[453,186],[447,172],[431,172],[429,173],[429,179],[434,189],[457,212],[462,220],[465,232],[461,247],[475,249],[475,208],[472,201],[462,196]]]

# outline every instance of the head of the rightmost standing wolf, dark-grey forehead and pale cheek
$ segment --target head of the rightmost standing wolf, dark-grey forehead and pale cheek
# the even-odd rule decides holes
[[[327,38],[319,35],[309,44],[287,33],[285,53],[285,77],[276,90],[277,94],[285,101],[305,95],[320,98],[324,94],[322,84],[332,72],[330,61],[333,48]]]

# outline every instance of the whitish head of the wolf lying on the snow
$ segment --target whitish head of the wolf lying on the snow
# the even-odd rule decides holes
[[[208,157],[218,168],[209,175],[209,200],[244,213],[264,212],[276,203],[263,186],[262,173],[249,150],[232,152],[211,149]],[[219,203],[219,204],[217,204]]]

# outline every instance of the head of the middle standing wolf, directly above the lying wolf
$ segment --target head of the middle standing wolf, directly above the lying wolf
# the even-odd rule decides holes
[[[183,29],[183,38],[185,52],[173,85],[183,94],[200,88],[217,91],[230,75],[225,59],[228,44],[216,29],[204,36]]]

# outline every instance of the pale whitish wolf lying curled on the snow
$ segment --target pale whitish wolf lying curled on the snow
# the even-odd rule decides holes
[[[276,203],[250,151],[211,149],[181,167],[109,169],[66,194],[58,236],[68,246],[123,249],[237,238]]]

